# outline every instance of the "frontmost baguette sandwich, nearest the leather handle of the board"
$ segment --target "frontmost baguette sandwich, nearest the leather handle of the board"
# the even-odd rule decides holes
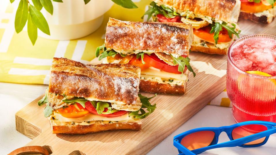
[[[154,111],[138,94],[141,69],[133,65],[85,65],[53,58],[46,104],[53,133],[85,134],[106,130],[141,130],[141,119]],[[146,111],[143,109],[146,108]]]

